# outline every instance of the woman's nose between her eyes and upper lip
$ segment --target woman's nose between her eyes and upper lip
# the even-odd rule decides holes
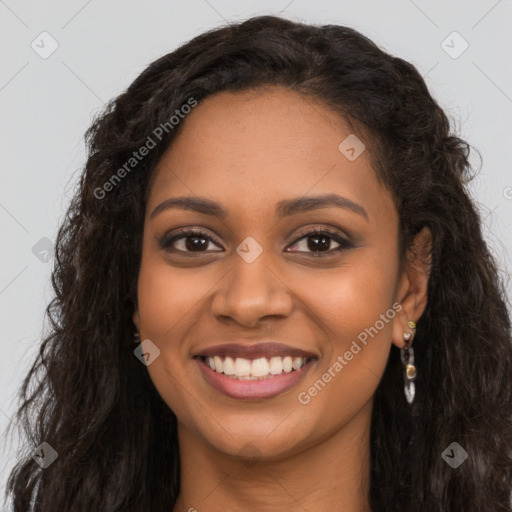
[[[292,292],[265,253],[252,263],[235,253],[231,268],[213,297],[212,314],[217,320],[255,327],[264,318],[290,315]]]

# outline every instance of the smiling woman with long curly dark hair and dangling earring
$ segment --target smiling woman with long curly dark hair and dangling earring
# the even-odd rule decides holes
[[[346,27],[152,63],[87,133],[13,510],[512,510],[510,321],[449,130]]]

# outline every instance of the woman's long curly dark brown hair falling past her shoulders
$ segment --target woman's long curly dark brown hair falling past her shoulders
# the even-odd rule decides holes
[[[13,511],[172,510],[176,416],[134,357],[132,313],[152,172],[180,127],[98,191],[190,98],[265,85],[321,99],[368,135],[396,201],[402,256],[424,226],[432,233],[415,405],[396,347],[375,394],[373,510],[512,511],[509,310],[466,191],[470,146],[410,63],[354,29],[275,16],[211,30],[156,60],[87,131],[88,159],[58,233],[51,329],[20,390],[27,443],[8,481]],[[46,469],[31,457],[42,442],[58,452]],[[452,442],[468,453],[457,469],[441,457]]]

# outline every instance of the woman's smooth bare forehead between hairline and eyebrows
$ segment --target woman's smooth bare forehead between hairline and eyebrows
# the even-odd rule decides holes
[[[355,160],[340,151],[355,134],[319,100],[281,87],[222,92],[181,122],[157,167],[148,210],[169,196],[207,196],[228,209],[254,211],[333,192],[365,203],[376,216],[393,207],[368,151]]]

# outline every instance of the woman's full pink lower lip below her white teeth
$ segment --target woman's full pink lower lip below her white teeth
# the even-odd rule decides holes
[[[265,379],[239,380],[212,370],[200,357],[195,358],[208,383],[220,393],[231,398],[256,400],[280,395],[300,382],[315,364],[316,359],[308,361],[300,370],[281,373]]]

